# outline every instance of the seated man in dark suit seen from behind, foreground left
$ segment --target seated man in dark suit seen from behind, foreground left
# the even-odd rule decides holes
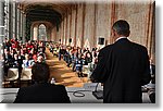
[[[20,88],[14,103],[71,103],[65,87],[49,84],[49,66],[36,63],[32,67],[33,79],[36,84]]]

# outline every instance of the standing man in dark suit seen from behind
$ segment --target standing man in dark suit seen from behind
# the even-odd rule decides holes
[[[141,86],[151,79],[147,48],[127,39],[126,21],[115,22],[112,30],[115,42],[100,50],[90,78],[103,83],[104,103],[140,103]]]

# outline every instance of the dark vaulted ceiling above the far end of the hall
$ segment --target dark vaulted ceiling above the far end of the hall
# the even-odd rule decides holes
[[[71,11],[75,2],[64,0],[16,0],[20,9],[26,14],[26,35],[30,34],[30,26],[35,22],[50,22],[59,29],[65,13]]]

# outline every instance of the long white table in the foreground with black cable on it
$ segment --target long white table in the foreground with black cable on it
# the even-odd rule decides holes
[[[12,103],[16,97],[18,88],[1,88],[0,89],[0,102],[2,103]],[[79,88],[79,87],[66,87],[67,94],[70,96],[70,99],[72,103],[102,103],[102,99],[97,99],[96,97],[92,96],[91,91],[80,91],[85,96],[84,97],[75,97],[73,95],[74,91],[76,90],[85,90],[85,88]],[[77,95],[77,94],[76,94]],[[147,92],[142,94],[142,100],[143,103],[150,103],[150,99]]]

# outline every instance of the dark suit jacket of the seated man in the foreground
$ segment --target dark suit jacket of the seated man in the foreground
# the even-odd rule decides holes
[[[63,85],[43,83],[20,88],[14,103],[71,103],[71,101]]]

